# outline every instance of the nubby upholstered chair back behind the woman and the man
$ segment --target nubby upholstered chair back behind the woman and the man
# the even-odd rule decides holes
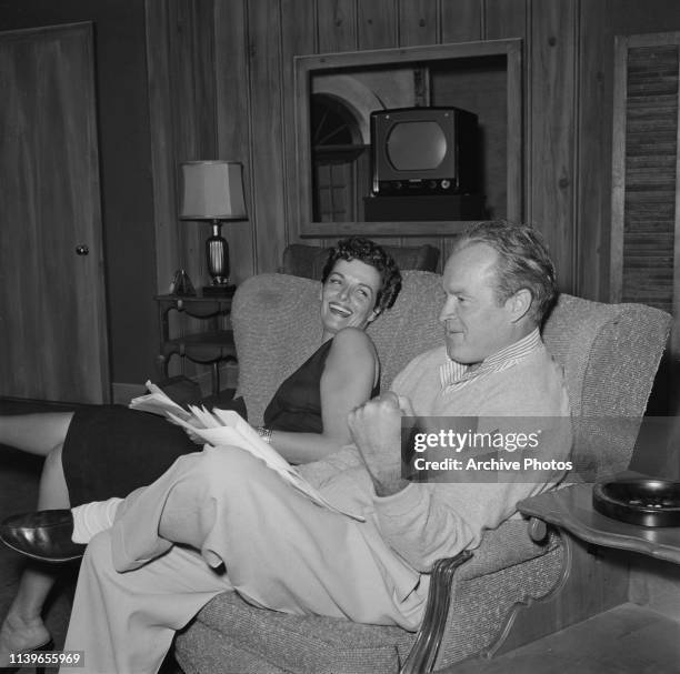
[[[321,284],[284,274],[243,282],[233,301],[239,391],[249,420],[262,413],[279,384],[319,346]],[[416,355],[441,343],[441,276],[403,272],[394,306],[368,329],[382,365],[381,388]],[[654,372],[657,345],[670,316],[642,304],[603,304],[562,294],[543,326],[543,339],[563,366],[574,415],[573,459],[587,479],[624,470]]]

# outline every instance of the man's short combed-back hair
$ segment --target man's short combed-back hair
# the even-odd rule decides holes
[[[496,296],[503,303],[517,291],[531,292],[529,315],[541,324],[557,295],[557,274],[541,234],[528,224],[506,220],[478,222],[456,241],[454,250],[486,243],[498,253]]]

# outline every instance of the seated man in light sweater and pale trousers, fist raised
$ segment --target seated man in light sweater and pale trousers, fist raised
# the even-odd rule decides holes
[[[87,670],[154,672],[174,631],[224,590],[278,611],[417,630],[432,563],[478,545],[553,477],[410,483],[402,415],[481,425],[569,416],[538,331],[556,281],[536,233],[476,225],[457,242],[443,288],[446,349],[417,358],[391,392],[350,414],[356,446],[300,469],[366,522],[314,505],[241,450],[181,457],[88,546],[64,648],[84,651]],[[551,430],[549,446],[552,459],[568,456],[567,424]]]

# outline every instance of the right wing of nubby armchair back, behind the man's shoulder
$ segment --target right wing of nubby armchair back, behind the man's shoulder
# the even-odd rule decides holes
[[[581,477],[592,481],[628,467],[670,321],[644,304],[560,295],[543,340],[564,368],[572,459]]]

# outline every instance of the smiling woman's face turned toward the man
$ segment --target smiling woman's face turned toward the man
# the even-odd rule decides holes
[[[338,260],[321,289],[323,332],[336,334],[343,328],[362,330],[378,315],[380,272],[360,260]]]

